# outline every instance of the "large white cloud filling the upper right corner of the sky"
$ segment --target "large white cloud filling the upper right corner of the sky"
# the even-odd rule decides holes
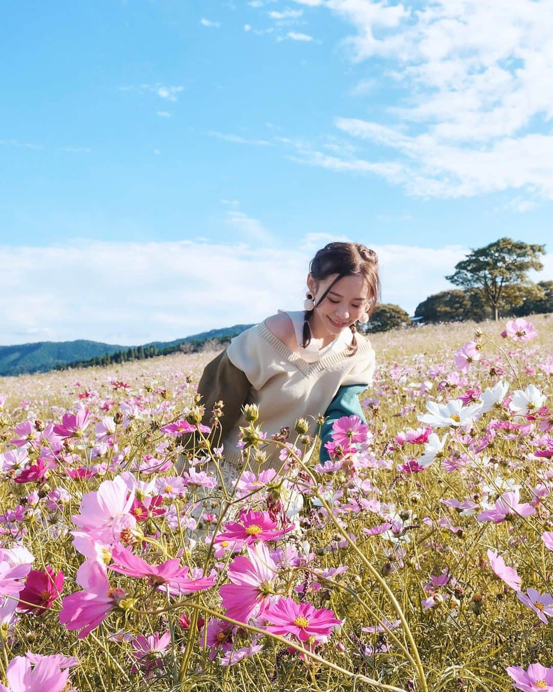
[[[518,190],[553,199],[551,0],[296,2],[348,21],[353,33],[342,45],[357,71],[378,60],[382,81],[402,94],[384,104],[381,122],[336,121],[388,150],[395,164],[391,175],[383,171],[389,181],[421,197]],[[373,78],[362,80],[350,93],[372,86]],[[373,156],[319,164],[311,156],[305,163],[363,171]]]

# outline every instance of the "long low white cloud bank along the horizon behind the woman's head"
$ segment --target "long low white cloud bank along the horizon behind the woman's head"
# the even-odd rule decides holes
[[[247,225],[236,213],[234,219],[235,228]],[[308,234],[293,252],[240,241],[0,246],[1,343],[88,338],[138,345],[299,310],[309,262],[330,240],[348,238]],[[451,288],[443,277],[468,252],[455,245],[372,247],[382,300],[410,313],[427,295]],[[543,262],[534,280],[553,275],[553,254]]]

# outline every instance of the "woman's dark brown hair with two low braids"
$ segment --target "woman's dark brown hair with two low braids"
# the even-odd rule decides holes
[[[344,276],[363,276],[368,285],[368,309],[369,317],[376,309],[377,300],[380,297],[380,280],[378,277],[378,257],[373,250],[369,250],[361,243],[328,243],[309,263],[309,271],[315,281],[324,281],[331,274],[337,274],[335,280],[328,286],[328,289],[321,295],[317,303],[323,302],[326,294],[334,284]],[[311,330],[308,319],[313,310],[306,310],[303,316],[303,348],[306,348],[311,341]],[[357,339],[355,325],[350,325],[353,334],[350,345],[349,356],[357,353]]]

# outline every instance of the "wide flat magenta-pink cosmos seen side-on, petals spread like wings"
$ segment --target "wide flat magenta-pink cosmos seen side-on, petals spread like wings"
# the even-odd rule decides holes
[[[203,591],[213,586],[215,581],[214,576],[191,579],[188,567],[180,567],[178,558],[167,560],[155,567],[137,555],[133,555],[129,549],[121,545],[116,545],[111,555],[114,563],[109,565],[110,570],[147,579],[149,586],[157,586],[160,590],[165,591],[163,587],[168,585],[171,594],[191,594]]]

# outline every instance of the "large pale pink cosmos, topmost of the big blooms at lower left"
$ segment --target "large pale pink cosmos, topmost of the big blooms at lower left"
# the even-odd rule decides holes
[[[81,513],[73,516],[73,523],[95,540],[116,543],[125,529],[133,530],[136,520],[130,513],[134,491],[121,476],[104,480],[97,491],[86,493],[81,501]]]

